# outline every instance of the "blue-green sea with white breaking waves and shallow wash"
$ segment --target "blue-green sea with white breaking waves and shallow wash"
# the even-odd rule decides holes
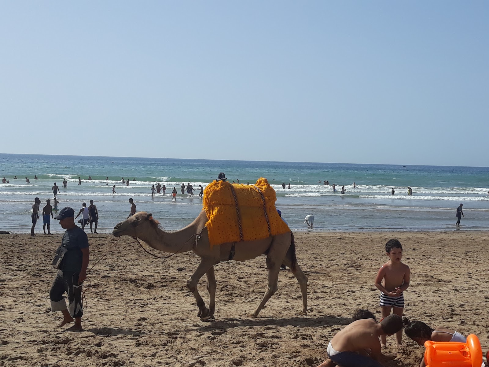
[[[489,229],[488,167],[0,154],[0,178],[9,180],[0,184],[0,230],[29,232],[34,198],[41,198],[42,208],[46,199],[53,199],[54,182],[61,188],[59,208],[71,206],[78,212],[82,202],[95,202],[99,232],[110,232],[127,217],[130,197],[137,210],[152,212],[165,229],[179,229],[202,209],[198,195],[182,195],[179,186],[205,187],[219,172],[230,182],[242,184],[266,177],[277,192],[277,208],[294,230],[307,229],[303,224],[307,214],[315,216],[315,231],[454,230],[460,203],[465,214],[461,229]],[[123,177],[136,181],[126,186]],[[67,188],[62,187],[63,178]],[[330,185],[325,186],[324,180]],[[158,182],[166,185],[166,195],[156,194],[152,199],[151,185]],[[283,189],[282,183],[290,184],[290,189]],[[116,194],[112,194],[113,184]],[[331,184],[336,184],[336,192]],[[344,195],[340,194],[342,185]],[[170,195],[174,186],[177,202]],[[407,195],[407,186],[413,189],[412,196]],[[392,188],[396,195],[391,195]],[[54,232],[62,232],[58,221],[51,225]],[[42,220],[36,232],[42,232]]]

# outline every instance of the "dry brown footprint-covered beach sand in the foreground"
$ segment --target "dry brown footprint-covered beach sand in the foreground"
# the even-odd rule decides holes
[[[60,235],[0,235],[0,366],[316,366],[330,338],[356,308],[379,315],[375,275],[383,250],[399,238],[411,268],[404,313],[432,326],[475,333],[489,346],[488,233],[297,233],[298,261],[309,277],[309,315],[299,286],[281,271],[278,292],[257,319],[267,284],[265,257],[216,266],[216,321],[197,317],[186,280],[193,253],[168,260],[123,237],[89,273],[83,332],[56,328],[48,291]],[[90,235],[91,265],[116,239]],[[154,251],[154,250],[153,250]],[[90,265],[90,266],[91,266]],[[205,281],[199,283],[207,302]],[[69,326],[69,325],[68,325]],[[387,339],[395,345],[394,337]],[[418,366],[422,348],[404,336],[389,366]]]

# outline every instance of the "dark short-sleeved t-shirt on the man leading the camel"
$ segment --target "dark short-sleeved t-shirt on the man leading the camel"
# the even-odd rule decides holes
[[[61,240],[61,246],[68,250],[63,257],[61,270],[67,272],[79,272],[82,270],[83,253],[81,249],[89,247],[89,239],[87,233],[80,227],[76,226],[72,229],[67,229]]]

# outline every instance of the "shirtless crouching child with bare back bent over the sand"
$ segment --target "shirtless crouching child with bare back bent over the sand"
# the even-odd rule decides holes
[[[382,354],[378,337],[393,335],[399,331],[402,332],[402,320],[398,315],[389,315],[380,323],[372,319],[353,321],[330,341],[328,357],[334,364],[342,367],[382,367],[395,354]],[[366,350],[370,350],[369,356],[366,355]],[[320,365],[323,366],[326,365]]]

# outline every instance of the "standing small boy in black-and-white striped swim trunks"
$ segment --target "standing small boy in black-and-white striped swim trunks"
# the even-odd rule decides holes
[[[385,244],[385,253],[389,256],[387,261],[378,270],[375,278],[375,286],[380,291],[380,309],[382,318],[391,314],[391,309],[394,314],[402,317],[404,310],[404,292],[409,287],[409,266],[403,264],[402,246],[399,240],[392,239]],[[383,284],[382,284],[383,283]],[[396,334],[397,346],[402,346],[402,331]],[[382,346],[386,346],[385,335],[380,337]]]

